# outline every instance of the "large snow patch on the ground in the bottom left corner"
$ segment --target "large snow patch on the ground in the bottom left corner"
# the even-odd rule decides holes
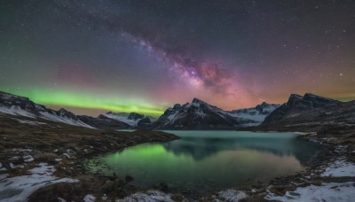
[[[46,163],[28,170],[30,175],[22,175],[0,180],[0,202],[25,201],[34,191],[53,183],[75,183],[71,178],[57,178],[55,168]]]

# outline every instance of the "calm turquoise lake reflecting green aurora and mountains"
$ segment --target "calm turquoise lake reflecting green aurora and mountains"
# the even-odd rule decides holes
[[[139,187],[166,183],[171,190],[204,192],[296,174],[319,150],[295,133],[166,132],[181,139],[138,144],[90,159],[86,167],[93,174],[131,175]]]

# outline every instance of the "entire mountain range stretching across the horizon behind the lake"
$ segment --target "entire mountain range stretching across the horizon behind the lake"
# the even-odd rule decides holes
[[[348,107],[348,108],[346,108]],[[238,129],[248,127],[272,128],[287,127],[295,124],[307,124],[305,121],[319,124],[321,120],[330,121],[331,114],[343,119],[341,110],[352,114],[352,105],[305,93],[304,96],[290,94],[282,105],[263,102],[256,107],[225,111],[217,106],[194,97],[191,103],[175,104],[166,109],[158,118],[139,113],[107,112],[98,117],[75,115],[64,108],[58,111],[38,105],[28,97],[20,97],[0,91],[0,113],[63,122],[69,125],[99,129]],[[326,112],[326,113],[324,113]],[[319,115],[323,114],[323,116]],[[327,115],[327,119],[325,118]],[[312,119],[310,119],[312,117]],[[348,119],[349,120],[349,119]],[[350,120],[352,121],[352,120]]]

